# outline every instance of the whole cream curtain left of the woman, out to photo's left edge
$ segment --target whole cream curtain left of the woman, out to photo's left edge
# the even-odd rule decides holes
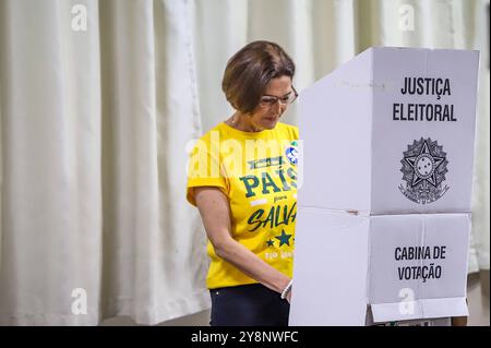
[[[184,197],[200,133],[190,20],[175,0],[0,1],[0,324],[209,307]]]

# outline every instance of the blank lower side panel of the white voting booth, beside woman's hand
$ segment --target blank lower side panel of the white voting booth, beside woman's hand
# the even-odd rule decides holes
[[[367,217],[297,213],[290,325],[364,325]]]

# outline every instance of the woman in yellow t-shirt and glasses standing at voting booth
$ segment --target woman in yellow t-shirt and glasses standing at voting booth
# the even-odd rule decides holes
[[[243,47],[221,84],[236,111],[191,156],[187,197],[208,237],[213,326],[288,325],[298,129],[278,120],[297,98],[294,74],[278,45]]]

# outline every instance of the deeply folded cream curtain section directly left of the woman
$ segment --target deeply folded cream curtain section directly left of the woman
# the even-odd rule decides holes
[[[205,233],[183,194],[184,149],[200,133],[190,9],[170,0],[99,5],[109,19],[103,80],[113,86],[103,112],[112,132],[103,137],[105,316],[156,324],[209,305]]]

